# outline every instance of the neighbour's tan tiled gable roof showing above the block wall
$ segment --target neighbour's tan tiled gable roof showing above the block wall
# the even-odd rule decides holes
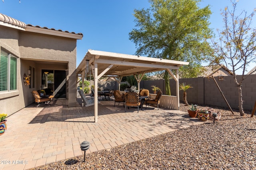
[[[227,75],[228,74],[234,75],[223,64],[220,64],[220,65],[217,64],[217,65],[211,65],[211,66],[203,66],[201,70],[202,70],[202,72],[201,72],[201,74],[199,76],[203,76],[203,77],[210,77],[210,76],[214,75],[216,72],[218,72],[218,70],[222,70],[222,72],[226,71]],[[227,75],[223,75],[223,76],[227,76]]]

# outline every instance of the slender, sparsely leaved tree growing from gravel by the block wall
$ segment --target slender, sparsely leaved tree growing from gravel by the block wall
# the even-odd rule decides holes
[[[222,11],[224,29],[218,30],[218,40],[213,41],[215,57],[212,63],[229,68],[234,74],[234,83],[238,88],[238,106],[240,115],[244,115],[242,100],[242,82],[248,76],[244,75],[246,66],[256,62],[256,29],[250,27],[256,10],[250,14],[243,11],[236,14],[236,1],[231,1],[232,10],[225,7]],[[236,71],[242,69],[238,78]]]

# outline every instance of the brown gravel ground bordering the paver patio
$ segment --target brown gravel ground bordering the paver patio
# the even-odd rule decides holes
[[[180,110],[189,106],[180,104]],[[172,169],[256,170],[256,115],[211,106],[219,121],[207,121],[156,137],[101,150],[31,170]],[[208,106],[198,106],[206,109]]]

